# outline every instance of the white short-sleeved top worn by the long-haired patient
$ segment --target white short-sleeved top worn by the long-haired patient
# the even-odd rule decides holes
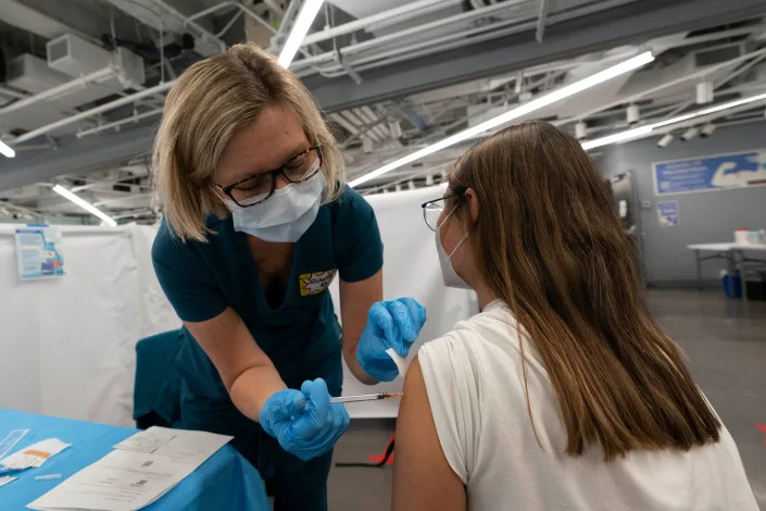
[[[757,511],[731,435],[689,452],[633,451],[603,461],[598,446],[564,453],[566,432],[537,350],[525,342],[538,445],[527,411],[516,323],[495,300],[418,358],[441,448],[472,511]]]

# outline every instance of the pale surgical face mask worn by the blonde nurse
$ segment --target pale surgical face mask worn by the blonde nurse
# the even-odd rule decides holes
[[[268,200],[249,208],[241,208],[228,198],[222,200],[231,212],[235,230],[264,241],[294,244],[316,220],[326,189],[327,179],[317,172],[303,183],[290,183],[274,190]]]

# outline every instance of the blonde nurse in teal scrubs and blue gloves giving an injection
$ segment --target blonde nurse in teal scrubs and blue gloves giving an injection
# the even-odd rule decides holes
[[[385,350],[406,356],[425,310],[381,301],[375,214],[341,184],[309,91],[254,45],[179,76],[153,167],[164,220],[152,258],[185,332],[175,426],[233,435],[276,510],[326,509],[331,449],[349,424],[329,401],[341,357],[365,384],[393,379]]]

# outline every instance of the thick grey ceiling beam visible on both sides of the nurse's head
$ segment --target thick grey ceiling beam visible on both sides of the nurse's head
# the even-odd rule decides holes
[[[317,75],[304,82],[325,111],[337,112],[616,46],[642,43],[663,35],[729,23],[762,14],[763,5],[763,0],[642,0],[561,23],[554,23],[549,15],[543,43],[538,43],[535,32],[530,30],[371,70],[363,73],[361,86],[349,77]],[[13,160],[0,159],[0,190],[147,157],[154,138],[154,124],[79,140],[62,137],[55,151],[20,151]]]

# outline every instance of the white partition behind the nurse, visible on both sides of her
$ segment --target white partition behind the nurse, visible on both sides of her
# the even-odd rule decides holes
[[[443,286],[423,221],[420,203],[441,192],[367,198],[385,245],[384,298],[413,297],[428,311],[413,354],[476,311],[472,292]],[[151,264],[156,228],[61,226],[66,275],[20,282],[16,227],[0,225],[0,408],[131,425],[135,345],[180,326]],[[331,292],[337,308],[337,283]],[[367,387],[344,371],[344,395],[402,387],[401,378]],[[395,416],[398,409],[397,400],[349,406],[353,417]]]

